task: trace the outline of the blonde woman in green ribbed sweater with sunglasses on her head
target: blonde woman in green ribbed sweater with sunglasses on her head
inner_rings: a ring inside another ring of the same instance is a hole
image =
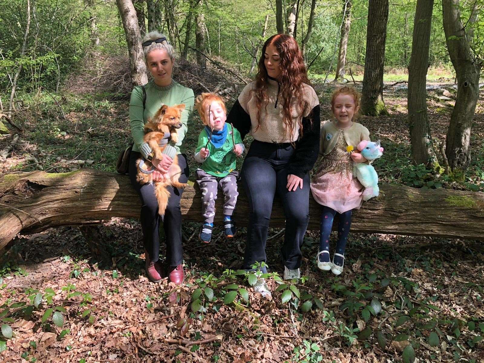
[[[131,152],[129,176],[133,187],[141,197],[140,220],[143,229],[145,267],[148,278],[153,282],[159,282],[167,273],[169,281],[181,284],[184,278],[180,209],[180,198],[183,190],[169,187],[171,196],[168,200],[168,206],[165,215],[160,216],[153,185],[140,185],[136,181],[136,160],[140,157],[151,160],[156,167],[153,171],[153,179],[161,181],[173,162],[172,157],[178,154],[178,164],[182,171],[180,182],[187,182],[190,172],[186,155],[183,153],[183,139],[187,131],[187,121],[192,117],[195,97],[193,90],[181,86],[171,76],[175,62],[175,50],[169,44],[165,35],[151,31],[143,38],[142,45],[146,66],[152,78],[144,86],[144,92],[142,87],[135,87],[131,92],[129,119],[131,136],[135,144]],[[153,157],[154,154],[150,146],[143,141],[144,124],[153,117],[161,106],[179,104],[185,104],[181,116],[182,127],[178,131],[179,141],[170,145],[168,138],[162,140],[161,143],[168,143],[168,146],[163,158],[156,159]],[[159,259],[160,237],[158,227],[160,219],[163,221],[166,236],[166,268]]]

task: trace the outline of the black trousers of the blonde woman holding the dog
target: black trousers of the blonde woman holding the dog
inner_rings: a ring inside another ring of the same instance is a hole
[[[129,178],[136,192],[141,197],[141,227],[143,229],[144,245],[150,258],[158,261],[160,255],[160,235],[158,227],[160,218],[163,222],[166,236],[166,262],[170,266],[178,266],[183,261],[183,249],[181,248],[181,208],[180,199],[183,189],[168,187],[170,198],[166,207],[165,215],[158,214],[158,201],[154,195],[153,184],[141,185],[136,181],[136,160],[141,157],[141,153],[131,151],[129,160]],[[190,171],[186,163],[184,154],[178,155],[178,165],[181,167],[179,181],[186,183]]]

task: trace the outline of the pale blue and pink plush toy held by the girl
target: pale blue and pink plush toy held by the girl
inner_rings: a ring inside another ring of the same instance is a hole
[[[358,144],[357,148],[370,161],[378,159],[383,154],[380,140],[376,142],[363,140]],[[378,174],[373,166],[366,163],[353,163],[353,177],[356,177],[364,186],[363,200],[378,197],[380,192],[378,188]]]

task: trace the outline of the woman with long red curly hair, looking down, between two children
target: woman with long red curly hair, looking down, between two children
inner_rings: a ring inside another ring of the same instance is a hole
[[[320,124],[318,96],[294,38],[277,34],[264,43],[256,80],[245,86],[227,122],[240,131],[242,139],[249,132],[254,138],[242,166],[249,201],[243,267],[251,269],[266,261],[267,229],[277,193],[286,214],[281,249],[284,278],[299,278],[309,221],[309,170],[318,157]],[[270,295],[263,279],[255,290]]]

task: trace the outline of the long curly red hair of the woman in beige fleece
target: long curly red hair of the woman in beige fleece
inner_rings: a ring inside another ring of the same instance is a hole
[[[282,99],[284,109],[283,122],[286,130],[289,131],[289,138],[292,140],[294,136],[294,124],[299,124],[300,134],[302,136],[302,116],[308,107],[307,102],[302,97],[302,84],[305,83],[311,86],[311,82],[307,77],[306,66],[302,58],[301,50],[296,40],[287,34],[272,35],[266,40],[262,47],[262,54],[258,63],[258,72],[256,76],[256,105],[257,105],[257,123],[260,124],[260,110],[262,105],[267,108],[269,98],[267,96],[267,87],[269,75],[267,74],[266,66],[264,64],[266,49],[269,45],[274,45],[279,53],[279,98]],[[298,108],[301,110],[301,115],[297,120],[291,117],[291,98],[298,98]],[[258,125],[257,125],[258,127]]]

